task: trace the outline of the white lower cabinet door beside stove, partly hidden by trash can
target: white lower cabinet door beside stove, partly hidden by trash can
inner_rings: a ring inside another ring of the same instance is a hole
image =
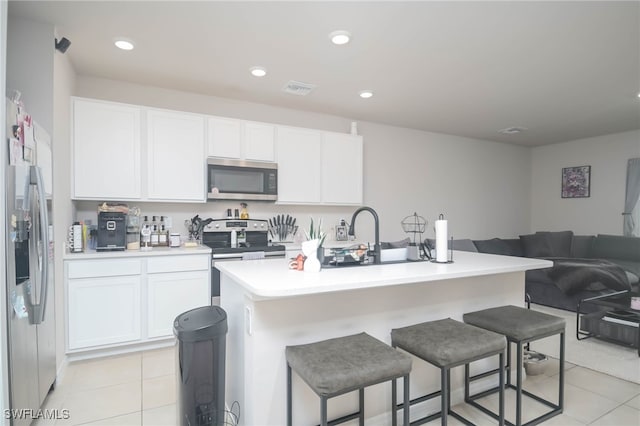
[[[211,304],[209,271],[149,274],[147,297],[147,337],[171,336],[178,315]]]

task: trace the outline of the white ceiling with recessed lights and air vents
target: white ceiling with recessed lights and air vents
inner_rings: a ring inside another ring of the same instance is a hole
[[[79,75],[520,145],[640,129],[638,1],[20,0],[9,15],[55,24]],[[292,79],[317,88],[284,93]]]

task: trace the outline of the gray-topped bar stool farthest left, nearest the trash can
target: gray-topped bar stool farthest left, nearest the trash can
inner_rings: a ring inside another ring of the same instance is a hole
[[[320,425],[327,426],[359,419],[364,425],[364,388],[392,381],[392,424],[397,425],[396,380],[403,377],[405,403],[409,398],[411,357],[366,333],[338,337],[299,346],[287,346],[287,425],[293,424],[291,370],[294,370],[320,397]],[[327,400],[359,391],[359,410],[338,419],[327,420]],[[404,425],[409,426],[409,409]]]

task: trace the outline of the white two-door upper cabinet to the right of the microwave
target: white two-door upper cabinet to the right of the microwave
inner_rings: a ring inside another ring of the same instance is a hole
[[[362,137],[278,127],[278,203],[361,205]]]

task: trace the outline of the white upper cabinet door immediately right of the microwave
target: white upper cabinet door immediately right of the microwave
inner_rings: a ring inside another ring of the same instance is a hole
[[[322,133],[278,127],[278,203],[320,202]]]

